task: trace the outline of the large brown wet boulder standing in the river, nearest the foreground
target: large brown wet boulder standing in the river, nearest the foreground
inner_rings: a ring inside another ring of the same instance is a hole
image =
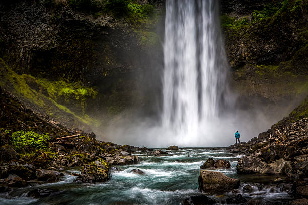
[[[223,173],[201,170],[198,178],[199,190],[204,193],[225,193],[240,186],[240,180]]]

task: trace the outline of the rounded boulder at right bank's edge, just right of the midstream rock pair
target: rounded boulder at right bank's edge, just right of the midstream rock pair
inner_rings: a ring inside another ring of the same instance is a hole
[[[238,174],[255,174],[264,168],[265,164],[261,159],[254,156],[245,156],[238,161],[236,170]]]

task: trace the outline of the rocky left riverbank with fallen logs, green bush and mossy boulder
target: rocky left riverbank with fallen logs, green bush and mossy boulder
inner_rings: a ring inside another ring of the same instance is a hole
[[[139,147],[103,142],[94,133],[71,130],[26,108],[2,89],[0,98],[1,192],[58,181],[71,167],[81,169],[76,182],[104,182],[111,177],[111,166],[139,161],[131,155]]]

